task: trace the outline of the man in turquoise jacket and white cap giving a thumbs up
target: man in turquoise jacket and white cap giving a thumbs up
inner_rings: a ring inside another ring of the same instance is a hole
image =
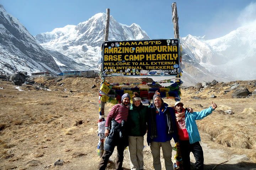
[[[187,112],[183,106],[184,104],[180,101],[174,105],[183,168],[190,170],[190,152],[192,152],[196,160],[195,169],[203,170],[203,149],[199,143],[201,138],[196,120],[203,119],[211,114],[217,108],[217,104],[212,102],[212,106],[209,108],[193,113]]]

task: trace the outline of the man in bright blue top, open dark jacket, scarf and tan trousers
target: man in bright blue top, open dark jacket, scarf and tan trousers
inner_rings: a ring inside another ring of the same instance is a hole
[[[158,91],[149,106],[147,142],[150,145],[155,170],[161,170],[160,148],[165,160],[165,169],[173,170],[171,156],[172,146],[170,140],[178,141],[175,125],[174,109],[164,103]]]

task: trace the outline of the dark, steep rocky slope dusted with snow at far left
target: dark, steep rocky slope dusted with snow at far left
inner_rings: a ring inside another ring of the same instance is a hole
[[[16,71],[57,74],[60,69],[18,19],[0,5],[0,73],[12,74]]]

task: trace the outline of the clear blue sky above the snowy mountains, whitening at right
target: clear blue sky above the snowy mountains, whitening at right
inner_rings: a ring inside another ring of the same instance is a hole
[[[77,25],[110,8],[117,22],[137,23],[151,39],[173,38],[170,0],[0,0],[32,35]],[[180,37],[214,39],[256,19],[256,0],[176,1]]]

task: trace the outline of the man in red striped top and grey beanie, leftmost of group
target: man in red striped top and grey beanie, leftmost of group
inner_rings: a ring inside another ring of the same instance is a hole
[[[105,124],[106,142],[104,145],[104,152],[100,160],[99,170],[105,170],[107,167],[108,159],[117,146],[116,169],[122,170],[123,165],[123,152],[128,146],[128,137],[125,134],[125,123],[128,117],[130,104],[130,96],[128,93],[122,96],[122,104],[116,104],[111,108],[107,115]]]

